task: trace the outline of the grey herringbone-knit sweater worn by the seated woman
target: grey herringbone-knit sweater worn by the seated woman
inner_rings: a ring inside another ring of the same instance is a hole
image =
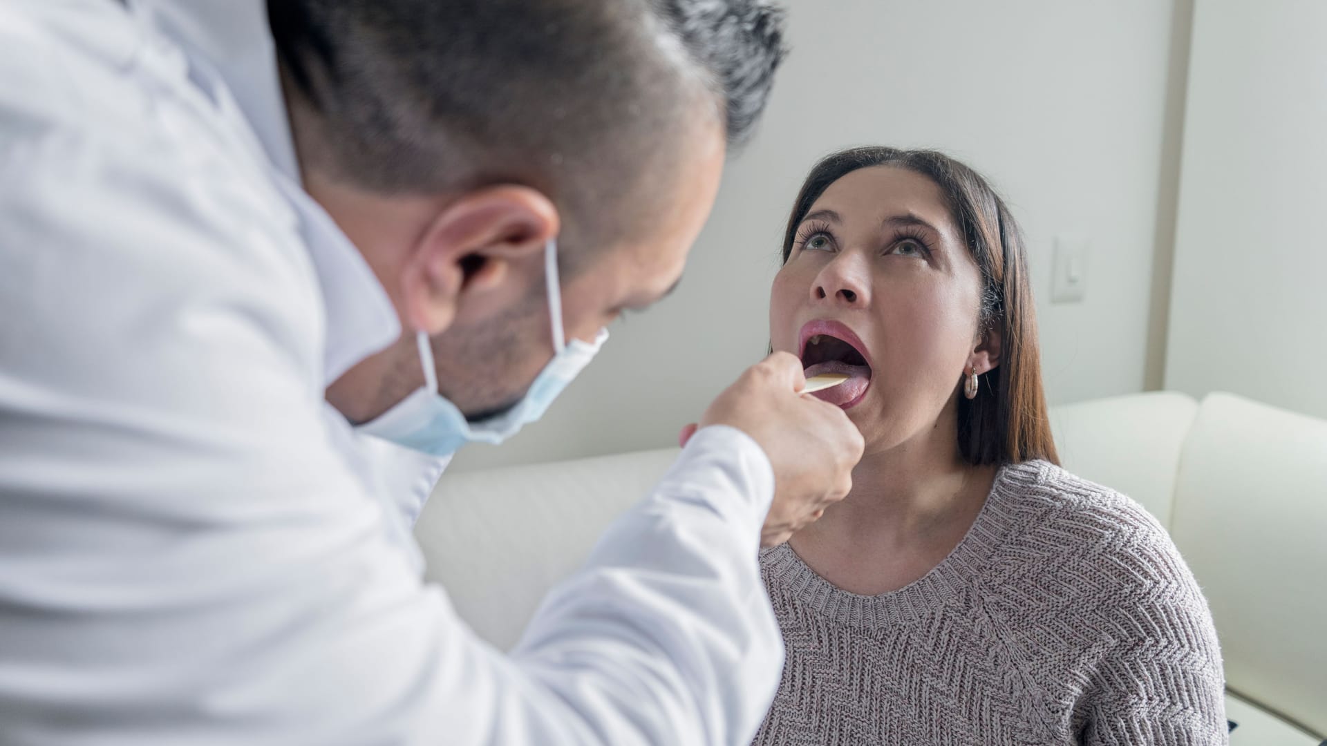
[[[787,662],[760,746],[1227,743],[1193,575],[1137,503],[1035,461],[910,585],[841,591],[760,555]]]

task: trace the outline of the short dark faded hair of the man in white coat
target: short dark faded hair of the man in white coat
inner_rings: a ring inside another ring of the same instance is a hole
[[[746,141],[784,56],[766,0],[269,0],[268,20],[301,162],[382,194],[524,183],[564,240],[585,211],[645,216],[633,196],[697,119]]]

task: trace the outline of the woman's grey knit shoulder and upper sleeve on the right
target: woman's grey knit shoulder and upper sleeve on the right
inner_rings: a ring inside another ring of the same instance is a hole
[[[1001,638],[1059,661],[1070,673],[1058,681],[1080,688],[1080,706],[1099,727],[1141,718],[1221,733],[1212,613],[1161,523],[1116,490],[1047,462],[1006,467],[991,496],[1022,518],[977,591],[1005,625]]]

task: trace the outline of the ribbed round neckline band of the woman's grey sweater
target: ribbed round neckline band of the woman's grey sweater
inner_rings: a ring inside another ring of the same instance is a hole
[[[974,584],[986,560],[1020,520],[1019,502],[1010,498],[1034,490],[1044,466],[1050,465],[1034,461],[1001,467],[958,546],[930,572],[897,591],[877,596],[844,591],[811,569],[788,543],[762,552],[766,576],[832,623],[876,627],[920,619],[959,600]]]

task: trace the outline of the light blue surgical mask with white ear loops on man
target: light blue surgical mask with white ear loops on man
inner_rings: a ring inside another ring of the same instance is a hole
[[[557,277],[557,242],[544,247],[544,281],[548,285],[548,316],[552,319],[553,358],[539,372],[529,390],[507,411],[478,422],[466,415],[438,393],[438,373],[433,365],[433,346],[429,335],[419,332],[419,362],[423,364],[423,388],[382,415],[365,422],[360,431],[386,438],[402,446],[433,455],[455,453],[466,443],[500,443],[516,434],[528,422],[544,415],[548,405],[563,393],[608,340],[608,329],[600,329],[593,342],[567,341],[563,329],[563,297]]]

